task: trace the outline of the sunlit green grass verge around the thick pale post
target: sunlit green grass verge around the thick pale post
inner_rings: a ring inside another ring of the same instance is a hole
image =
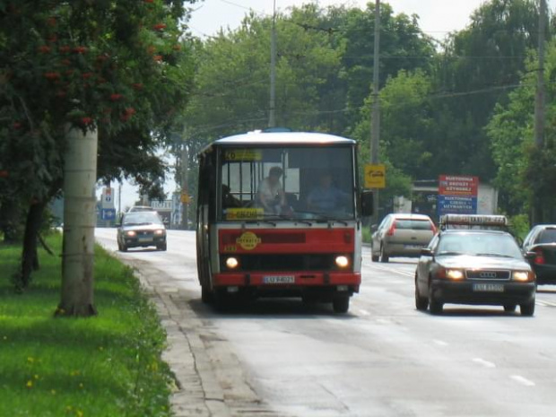
[[[48,237],[61,252],[61,236]],[[13,291],[21,248],[0,244],[0,415],[168,416],[166,334],[132,270],[97,247],[89,318],[54,317],[61,258],[39,251],[30,289]]]

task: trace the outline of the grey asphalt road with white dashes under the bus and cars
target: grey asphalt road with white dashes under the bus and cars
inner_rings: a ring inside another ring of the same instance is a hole
[[[113,251],[115,234],[96,231]],[[252,390],[267,410],[260,415],[556,413],[554,286],[540,287],[534,317],[449,304],[445,314],[431,316],[414,308],[416,260],[372,263],[367,248],[361,293],[347,315],[300,300],[257,300],[221,314],[200,301],[193,232],[169,230],[167,252],[131,249],[117,256],[168,275],[180,308],[192,308],[210,334],[204,345],[226,397],[244,395],[239,386]]]

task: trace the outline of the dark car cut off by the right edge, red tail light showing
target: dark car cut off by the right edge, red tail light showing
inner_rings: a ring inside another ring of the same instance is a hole
[[[537,284],[556,284],[556,224],[534,226],[523,241],[523,252],[534,252],[532,259]]]

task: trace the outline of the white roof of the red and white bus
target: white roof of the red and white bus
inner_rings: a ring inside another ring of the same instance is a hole
[[[262,132],[256,130],[241,135],[232,135],[218,139],[208,145],[201,153],[217,146],[266,146],[266,145],[318,145],[318,144],[355,144],[353,139],[342,136],[319,134],[314,132]]]

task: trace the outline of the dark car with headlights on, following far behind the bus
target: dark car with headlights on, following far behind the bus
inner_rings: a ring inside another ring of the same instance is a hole
[[[131,212],[122,216],[117,228],[117,248],[147,248],[166,250],[166,228],[156,212]]]

